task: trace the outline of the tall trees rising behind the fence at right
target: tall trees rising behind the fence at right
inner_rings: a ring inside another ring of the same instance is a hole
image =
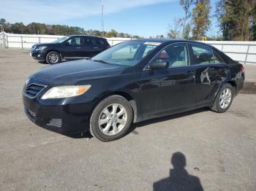
[[[211,0],[180,0],[179,3],[184,9],[184,17],[173,20],[167,32],[170,38],[206,39],[211,19],[217,17],[221,35],[214,39],[256,40],[255,0],[218,0],[214,15],[210,15]]]

